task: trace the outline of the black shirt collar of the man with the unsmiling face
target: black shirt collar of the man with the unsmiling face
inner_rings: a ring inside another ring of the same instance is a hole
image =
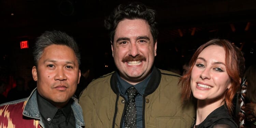
[[[39,108],[40,114],[47,120],[48,124],[51,124],[57,111],[63,112],[63,114],[66,117],[66,124],[68,123],[71,110],[72,110],[71,109],[71,102],[73,102],[72,99],[70,99],[68,104],[61,109],[58,109],[52,103],[44,99],[41,95],[39,95],[39,93],[37,93],[37,101],[38,101],[38,108]]]

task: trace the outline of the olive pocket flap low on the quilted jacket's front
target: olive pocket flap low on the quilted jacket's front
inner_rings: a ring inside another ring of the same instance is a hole
[[[157,117],[157,128],[186,128],[186,122],[181,117]]]

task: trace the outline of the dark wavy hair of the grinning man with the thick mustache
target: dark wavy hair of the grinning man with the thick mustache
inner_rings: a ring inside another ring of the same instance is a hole
[[[150,9],[146,5],[139,2],[132,2],[127,5],[120,4],[105,19],[105,28],[110,31],[110,40],[113,42],[115,30],[120,21],[124,19],[144,19],[150,26],[151,34],[155,43],[158,35],[155,15],[155,10]]]

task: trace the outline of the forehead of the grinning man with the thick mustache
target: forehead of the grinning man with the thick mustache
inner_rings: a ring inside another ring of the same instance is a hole
[[[115,37],[151,36],[150,26],[144,19],[124,19],[120,21],[115,30]]]

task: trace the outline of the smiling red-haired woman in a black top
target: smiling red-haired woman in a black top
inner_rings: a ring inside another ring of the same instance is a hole
[[[192,128],[237,128],[231,114],[244,71],[240,50],[227,40],[213,39],[197,49],[189,64],[180,84],[183,102],[197,99]]]

